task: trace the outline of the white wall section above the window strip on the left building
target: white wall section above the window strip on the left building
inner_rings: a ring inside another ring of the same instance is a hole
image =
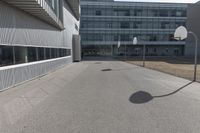
[[[61,31],[0,1],[0,43],[71,48],[72,35],[78,34],[75,24],[79,26],[79,22],[65,2],[63,14],[65,30]]]

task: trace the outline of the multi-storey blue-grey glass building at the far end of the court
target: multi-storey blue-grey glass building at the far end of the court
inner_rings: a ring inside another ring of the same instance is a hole
[[[182,56],[185,41],[173,34],[186,20],[187,4],[81,0],[82,54],[137,56],[145,44],[149,56]]]

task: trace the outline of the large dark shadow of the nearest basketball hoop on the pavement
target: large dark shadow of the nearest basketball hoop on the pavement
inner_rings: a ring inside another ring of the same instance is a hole
[[[138,91],[138,92],[136,92],[136,93],[134,93],[134,94],[132,94],[132,95],[130,96],[129,101],[130,101],[131,103],[134,103],[134,104],[143,104],[143,103],[147,103],[147,102],[153,100],[154,98],[162,98],[162,97],[167,97],[167,96],[173,95],[173,94],[175,94],[175,93],[181,91],[181,90],[184,89],[185,87],[191,85],[192,83],[193,83],[193,81],[190,82],[190,83],[188,83],[188,84],[186,84],[186,85],[184,85],[184,86],[182,86],[182,87],[180,87],[180,88],[178,88],[177,90],[175,90],[175,91],[173,91],[173,92],[171,92],[171,93],[164,94],[164,95],[159,95],[159,96],[152,96],[152,95],[151,95],[150,93],[148,93],[148,92],[145,92],[145,91]]]

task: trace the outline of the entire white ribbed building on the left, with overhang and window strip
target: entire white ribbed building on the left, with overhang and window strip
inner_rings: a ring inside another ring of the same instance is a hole
[[[79,0],[0,1],[0,90],[72,62]]]

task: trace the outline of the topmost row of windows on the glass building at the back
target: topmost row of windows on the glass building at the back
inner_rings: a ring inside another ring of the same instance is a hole
[[[82,7],[82,15],[92,16],[154,16],[186,17],[186,9],[97,9]]]

